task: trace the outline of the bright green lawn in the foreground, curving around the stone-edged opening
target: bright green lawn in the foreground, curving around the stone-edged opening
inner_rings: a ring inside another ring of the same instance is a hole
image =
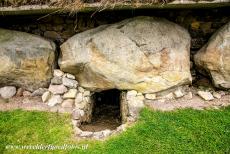
[[[67,115],[0,112],[0,153],[35,153],[4,149],[7,144],[88,144],[86,151],[60,153],[230,153],[230,108],[156,112],[144,109],[126,132],[106,141],[75,141]],[[52,151],[40,151],[52,153]]]

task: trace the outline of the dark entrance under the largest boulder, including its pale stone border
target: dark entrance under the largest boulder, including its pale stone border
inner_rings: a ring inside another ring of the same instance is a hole
[[[84,110],[76,106],[72,114],[75,134],[80,138],[104,139],[125,130],[133,122],[129,118],[136,119],[136,114],[129,113],[126,91],[91,91],[87,104]]]

